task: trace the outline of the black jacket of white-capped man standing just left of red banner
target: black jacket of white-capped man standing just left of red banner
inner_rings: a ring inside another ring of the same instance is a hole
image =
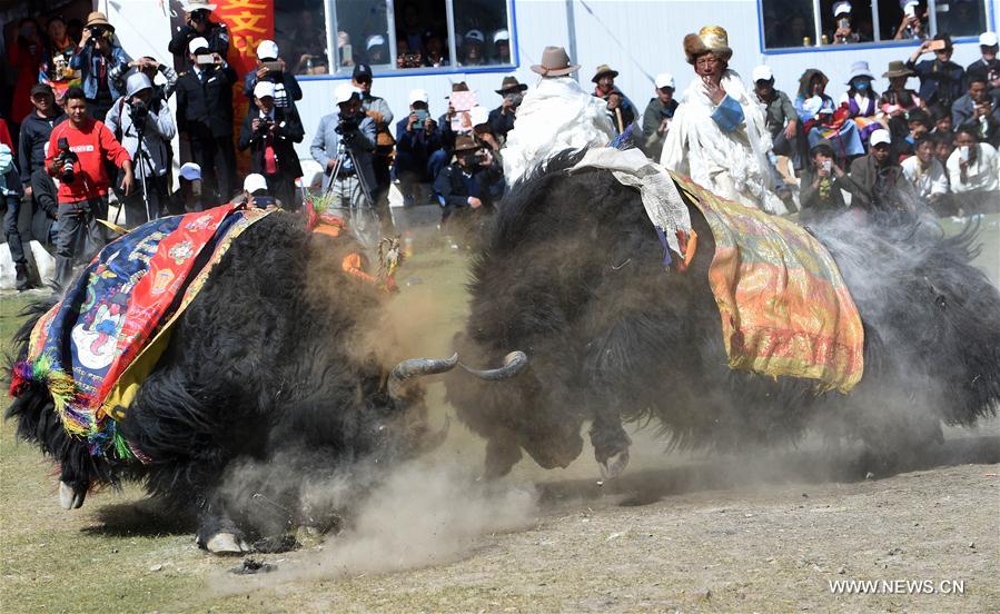
[[[232,83],[236,71],[214,67],[202,82],[194,70],[177,78],[177,129],[191,137],[232,135]]]

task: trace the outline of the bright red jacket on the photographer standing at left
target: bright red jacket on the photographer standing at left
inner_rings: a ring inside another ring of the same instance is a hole
[[[59,185],[59,202],[79,202],[90,200],[108,194],[108,174],[105,171],[105,160],[115,162],[121,167],[130,160],[128,150],[121,147],[115,139],[111,130],[101,121],[88,119],[82,129],[73,127],[70,120],[56,126],[49,137],[49,151],[46,155],[46,168],[52,177],[59,177],[62,168],[55,164],[59,154],[59,139],[66,139],[69,150],[77,155],[79,160],[73,165],[73,180]]]

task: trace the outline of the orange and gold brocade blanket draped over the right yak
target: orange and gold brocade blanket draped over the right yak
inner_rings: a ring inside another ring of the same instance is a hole
[[[861,316],[836,263],[794,222],[671,174],[715,238],[709,284],[730,367],[819,380],[846,393],[864,368]]]

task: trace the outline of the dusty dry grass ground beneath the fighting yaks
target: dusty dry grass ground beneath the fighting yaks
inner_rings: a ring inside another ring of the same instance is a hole
[[[978,265],[1000,284],[998,221],[992,216],[982,227]],[[417,245],[400,275],[403,300],[393,308],[409,318],[409,348],[443,354],[464,318],[463,256]],[[0,297],[0,339],[11,337],[26,300]],[[430,403],[444,413],[442,396],[432,386]],[[452,433],[445,454],[458,464],[479,463],[482,444],[461,427]],[[583,462],[545,474],[522,463],[513,479],[541,484],[543,506],[519,531],[484,535],[448,559],[397,573],[320,574],[254,590],[253,578],[228,574],[239,559],[200,552],[191,527],[159,515],[135,485],[62,511],[51,465],[16,443],[3,424],[0,611],[996,612],[998,468],[964,464],[997,462],[988,449],[1000,440],[996,423],[986,433],[960,439],[953,455],[941,457],[953,466],[853,484],[828,483],[802,469],[809,463],[798,456],[763,485],[741,464],[664,468],[653,444],[647,460],[659,466],[643,474],[637,452],[633,482],[617,491],[595,487],[594,467]],[[336,547],[334,541],[267,558],[301,568],[336,556]],[[914,576],[964,578],[970,587],[961,597],[865,601],[833,597],[824,584]]]

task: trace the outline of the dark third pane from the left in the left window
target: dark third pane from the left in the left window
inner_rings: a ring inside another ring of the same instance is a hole
[[[396,68],[451,66],[445,0],[408,0],[396,4]]]

